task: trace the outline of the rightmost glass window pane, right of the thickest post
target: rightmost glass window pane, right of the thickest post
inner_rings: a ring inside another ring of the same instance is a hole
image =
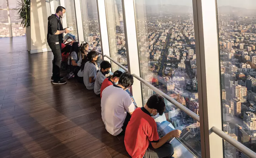
[[[217,5],[223,131],[256,152],[256,1]],[[228,144],[224,148],[225,154],[240,154]]]

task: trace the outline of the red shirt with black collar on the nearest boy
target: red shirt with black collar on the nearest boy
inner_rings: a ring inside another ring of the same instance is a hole
[[[159,142],[156,122],[144,107],[137,108],[125,130],[126,151],[132,158],[142,158],[150,142]]]

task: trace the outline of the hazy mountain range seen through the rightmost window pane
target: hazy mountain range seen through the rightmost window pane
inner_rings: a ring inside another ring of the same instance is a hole
[[[256,16],[256,9],[246,9],[232,6],[218,7],[218,14],[228,14],[234,16]]]

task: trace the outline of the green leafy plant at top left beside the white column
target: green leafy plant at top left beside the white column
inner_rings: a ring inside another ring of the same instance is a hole
[[[22,19],[21,26],[23,28],[30,26],[30,0],[18,1],[19,5],[19,19]]]

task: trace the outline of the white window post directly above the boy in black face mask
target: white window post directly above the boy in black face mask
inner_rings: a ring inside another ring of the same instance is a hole
[[[103,56],[103,55],[110,56],[108,33],[107,33],[106,8],[105,8],[104,0],[97,0],[97,10],[98,10],[98,19],[99,19],[102,58],[103,60],[111,62],[107,57],[104,58]]]

